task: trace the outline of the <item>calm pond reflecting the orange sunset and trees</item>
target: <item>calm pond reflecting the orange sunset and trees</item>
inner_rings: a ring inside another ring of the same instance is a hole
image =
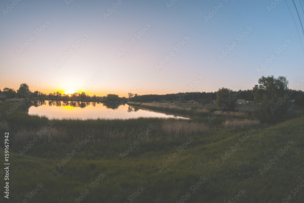
[[[187,117],[169,115],[152,110],[132,107],[120,103],[100,102],[69,102],[69,101],[31,101],[29,114],[44,115],[48,118],[107,118],[107,119],[128,119],[138,117],[159,117],[159,118],[183,118]]]

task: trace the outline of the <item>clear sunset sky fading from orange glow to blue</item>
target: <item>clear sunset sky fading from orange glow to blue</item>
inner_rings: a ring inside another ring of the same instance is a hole
[[[123,97],[282,75],[304,90],[304,3],[294,2],[2,0],[0,89]]]

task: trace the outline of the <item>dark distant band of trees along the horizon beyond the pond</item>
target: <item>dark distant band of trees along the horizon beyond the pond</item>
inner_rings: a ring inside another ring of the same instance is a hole
[[[254,101],[254,95],[252,89],[247,90],[239,90],[237,91],[237,99],[244,99],[245,101]],[[134,93],[128,93],[129,98],[119,97],[116,94],[108,94],[107,96],[89,96],[85,92],[82,93],[73,93],[71,95],[61,94],[59,92],[49,93],[48,95],[45,93],[41,93],[39,91],[32,92],[29,89],[29,86],[25,83],[21,84],[17,91],[15,89],[7,88],[0,89],[0,93],[4,94],[6,99],[9,98],[25,98],[25,99],[33,99],[39,98],[43,100],[100,100],[103,102],[106,101],[134,101],[134,102],[159,102],[159,101],[171,101],[178,103],[186,103],[187,101],[194,100],[199,103],[210,103],[212,100],[216,100],[216,92],[185,92],[185,93],[174,93],[174,94],[146,94],[146,95],[138,95]],[[293,90],[293,94],[289,97],[290,100],[296,100],[297,105],[304,106],[304,92],[302,90]],[[5,100],[5,98],[0,98],[0,100]]]

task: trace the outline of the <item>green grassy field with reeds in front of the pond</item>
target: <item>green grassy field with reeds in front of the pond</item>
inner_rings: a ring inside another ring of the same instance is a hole
[[[10,143],[10,198],[1,202],[304,199],[302,116],[269,126],[218,112],[209,122],[212,112],[191,107],[176,109],[197,112],[190,120],[49,120],[23,105],[7,117],[10,106],[0,103],[0,153],[5,132]]]

